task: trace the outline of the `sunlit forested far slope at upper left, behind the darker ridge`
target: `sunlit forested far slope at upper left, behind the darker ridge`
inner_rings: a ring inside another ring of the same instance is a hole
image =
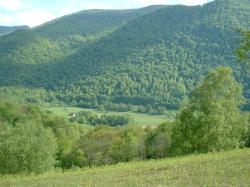
[[[61,59],[112,33],[127,21],[160,9],[87,10],[1,38],[0,63],[40,64]]]

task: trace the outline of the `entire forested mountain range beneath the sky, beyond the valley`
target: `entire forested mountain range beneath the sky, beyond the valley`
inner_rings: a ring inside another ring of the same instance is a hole
[[[212,68],[236,63],[248,0],[90,10],[0,38],[0,85],[45,88],[67,104],[177,108]]]

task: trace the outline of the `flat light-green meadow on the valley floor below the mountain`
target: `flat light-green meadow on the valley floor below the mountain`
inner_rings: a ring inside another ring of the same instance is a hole
[[[76,108],[76,107],[46,107],[45,110],[52,111],[54,114],[59,116],[68,117],[70,113],[76,113],[82,110],[85,111],[92,111],[96,113],[97,115],[107,114],[107,112],[98,111],[94,109],[82,109],[82,108]],[[174,112],[172,112],[174,115]],[[167,115],[150,115],[150,114],[139,114],[135,112],[108,112],[108,114],[116,114],[116,115],[122,115],[122,114],[128,114],[133,118],[133,124],[135,125],[159,125],[165,121],[171,120],[171,118]]]

